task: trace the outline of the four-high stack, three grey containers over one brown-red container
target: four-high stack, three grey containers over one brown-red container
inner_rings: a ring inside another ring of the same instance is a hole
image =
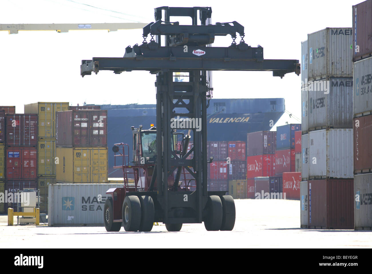
[[[353,37],[325,28],[301,44],[301,227],[353,228]]]

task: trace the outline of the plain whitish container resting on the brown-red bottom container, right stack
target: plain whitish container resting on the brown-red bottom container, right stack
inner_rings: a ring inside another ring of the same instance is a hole
[[[309,178],[353,178],[353,129],[309,133]]]

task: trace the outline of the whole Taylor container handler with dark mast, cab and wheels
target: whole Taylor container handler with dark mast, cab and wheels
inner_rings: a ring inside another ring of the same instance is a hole
[[[122,224],[125,231],[151,231],[154,222],[163,222],[168,231],[180,231],[184,223],[202,222],[209,231],[234,228],[232,196],[207,190],[208,163],[213,161],[207,158],[206,145],[206,108],[213,90],[211,71],[272,71],[273,76],[282,78],[291,72],[299,75],[300,64],[298,60],[263,59],[260,45],[251,47],[244,42],[242,25],[236,21],[212,25],[211,14],[211,7],[157,7],[155,22],[143,28],[141,45],[126,47],[124,57],[93,57],[81,62],[83,77],[100,70],[147,70],[156,74],[156,127],[132,127],[131,163],[127,144],[113,147],[115,168],[123,170],[125,186],[106,192],[112,196],[104,207],[107,231],[119,231]],[[171,22],[173,16],[191,17],[192,25]],[[237,33],[239,44],[235,42]],[[216,36],[226,35],[232,37],[229,47],[211,46]],[[180,72],[187,81],[177,79]],[[183,136],[180,131],[185,130]],[[193,143],[191,149],[187,149],[189,142]],[[117,158],[121,159],[118,165]],[[180,181],[183,169],[195,179],[194,188]],[[128,174],[134,176],[132,185]]]

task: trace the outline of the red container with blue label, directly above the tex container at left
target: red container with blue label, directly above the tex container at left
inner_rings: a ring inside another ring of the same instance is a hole
[[[5,154],[7,180],[32,180],[37,178],[36,148],[9,147]]]

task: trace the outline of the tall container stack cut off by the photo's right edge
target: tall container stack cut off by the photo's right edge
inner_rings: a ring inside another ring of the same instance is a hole
[[[353,6],[354,229],[372,230],[372,0]]]

